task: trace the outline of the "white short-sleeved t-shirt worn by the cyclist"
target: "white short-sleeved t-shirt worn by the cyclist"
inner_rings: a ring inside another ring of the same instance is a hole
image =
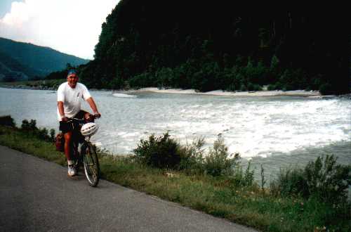
[[[62,83],[58,87],[58,101],[62,101],[63,110],[66,117],[73,117],[81,110],[81,100],[90,98],[91,95],[84,84],[77,83],[73,89],[68,82]],[[58,112],[58,120],[61,121],[60,112]]]

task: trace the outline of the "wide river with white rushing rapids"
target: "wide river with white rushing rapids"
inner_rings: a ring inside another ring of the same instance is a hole
[[[351,163],[350,100],[91,94],[102,113],[93,141],[112,153],[131,153],[140,138],[169,131],[183,144],[203,136],[206,146],[220,135],[231,153],[239,152],[266,169],[306,163],[331,153],[339,162]],[[84,109],[89,110],[88,105]],[[12,115],[18,126],[24,119],[35,119],[39,127],[58,131],[55,91],[0,88],[0,115]]]

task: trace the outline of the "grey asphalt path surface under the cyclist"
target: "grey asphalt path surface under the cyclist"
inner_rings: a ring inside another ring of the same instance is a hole
[[[0,231],[254,231],[0,146]]]

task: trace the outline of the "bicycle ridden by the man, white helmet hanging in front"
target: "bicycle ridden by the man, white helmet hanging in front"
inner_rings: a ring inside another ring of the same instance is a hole
[[[72,134],[72,158],[74,160],[74,166],[77,171],[81,167],[84,166],[84,173],[86,175],[86,179],[90,186],[96,187],[98,186],[100,180],[100,165],[98,160],[98,154],[96,153],[96,147],[91,143],[90,139],[93,134],[98,130],[97,125],[93,122],[95,120],[95,116],[91,115],[90,121],[86,122],[86,120],[79,120],[77,118],[71,118],[67,122],[72,122],[74,130]],[[85,133],[82,134],[82,130],[86,127],[94,124],[96,129],[93,131],[93,134]],[[84,126],[85,125],[85,126]],[[79,144],[81,144],[80,152],[79,152]]]

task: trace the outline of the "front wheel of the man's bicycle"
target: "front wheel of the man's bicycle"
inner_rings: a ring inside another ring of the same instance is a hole
[[[98,154],[96,154],[96,148],[91,143],[88,143],[88,146],[85,149],[83,163],[84,172],[89,185],[96,187],[100,179],[100,166]]]

